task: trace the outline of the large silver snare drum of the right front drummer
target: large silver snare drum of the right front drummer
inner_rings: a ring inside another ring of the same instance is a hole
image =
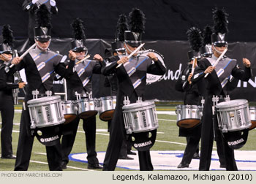
[[[223,133],[249,129],[252,125],[246,99],[223,101],[216,108],[219,129]]]

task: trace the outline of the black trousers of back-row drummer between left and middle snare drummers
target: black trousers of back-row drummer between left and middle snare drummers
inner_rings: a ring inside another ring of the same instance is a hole
[[[75,136],[78,131],[79,118],[64,125],[64,135],[61,140],[61,150],[63,153],[62,161],[69,162],[69,153],[75,142]],[[66,126],[66,127],[65,127]],[[99,164],[97,152],[95,151],[96,142],[96,116],[83,119],[83,130],[86,134],[86,150],[88,164]]]

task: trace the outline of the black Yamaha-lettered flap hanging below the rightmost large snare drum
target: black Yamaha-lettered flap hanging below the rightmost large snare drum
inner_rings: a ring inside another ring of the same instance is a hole
[[[243,147],[248,138],[249,129],[244,129],[241,131],[228,131],[227,133],[222,133],[228,147],[237,150]]]

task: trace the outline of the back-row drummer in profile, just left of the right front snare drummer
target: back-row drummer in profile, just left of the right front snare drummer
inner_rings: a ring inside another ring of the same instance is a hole
[[[200,59],[200,47],[201,47],[201,37],[200,37],[200,30],[198,28],[192,27],[189,28],[187,31],[189,44],[192,47],[192,50],[189,50],[188,57],[189,63],[188,66],[181,71],[181,75],[178,77],[176,82],[175,88],[176,91],[185,92],[184,94],[184,105],[200,105],[200,88],[197,85],[191,85],[189,88],[184,88],[185,85],[189,84],[189,78],[191,76],[189,73],[192,70],[193,60]],[[198,44],[196,44],[198,43]],[[195,63],[195,68],[197,64]],[[184,168],[189,167],[192,158],[200,158],[199,157],[199,141],[200,141],[200,134],[201,134],[201,125],[197,125],[191,129],[185,129],[179,127],[178,129],[178,136],[179,137],[186,137],[187,139],[187,146],[184,151],[184,156],[180,164],[178,164],[177,168]]]

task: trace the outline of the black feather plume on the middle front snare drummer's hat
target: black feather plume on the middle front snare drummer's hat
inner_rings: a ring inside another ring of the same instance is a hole
[[[138,9],[133,8],[129,13],[129,28],[130,31],[135,33],[144,33],[146,18],[144,13]]]

